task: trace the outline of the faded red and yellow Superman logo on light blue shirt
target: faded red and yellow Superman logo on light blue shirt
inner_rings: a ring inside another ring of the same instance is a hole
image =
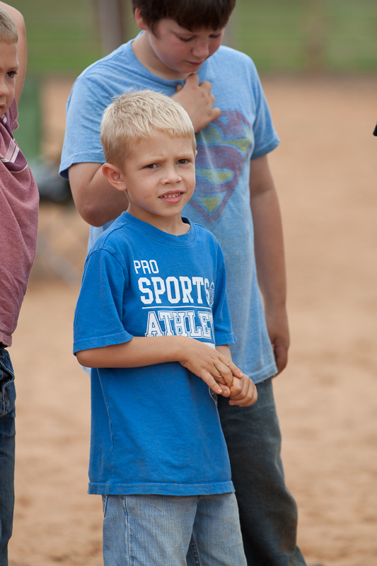
[[[250,123],[238,110],[221,112],[197,135],[197,184],[190,204],[213,225],[233,195],[249,159]]]

